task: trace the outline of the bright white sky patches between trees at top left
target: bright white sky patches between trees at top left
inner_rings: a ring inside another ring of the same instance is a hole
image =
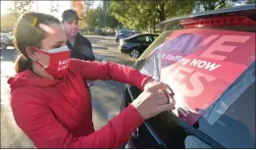
[[[99,5],[100,1],[95,1],[93,8],[96,8]],[[54,3],[59,4],[59,11],[56,14],[51,14],[57,17],[59,20],[61,20],[61,16],[63,11],[67,9],[71,9],[71,2],[70,1],[54,1]],[[1,14],[5,14],[5,12],[10,8],[12,5],[12,1],[2,1],[1,0]],[[38,12],[39,13],[45,13],[45,14],[50,14],[50,6],[51,6],[51,1],[37,1],[38,5]],[[31,11],[36,12],[36,2],[34,1],[31,7]]]

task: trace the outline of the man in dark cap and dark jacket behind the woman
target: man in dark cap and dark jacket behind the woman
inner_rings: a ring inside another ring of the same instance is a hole
[[[62,24],[68,36],[67,45],[72,50],[71,57],[84,60],[95,61],[90,41],[78,32],[77,12],[74,10],[66,10],[62,14]]]

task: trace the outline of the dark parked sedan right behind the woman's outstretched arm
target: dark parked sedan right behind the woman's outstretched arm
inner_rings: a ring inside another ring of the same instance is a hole
[[[158,34],[135,34],[121,39],[119,49],[131,58],[138,58],[157,37]]]

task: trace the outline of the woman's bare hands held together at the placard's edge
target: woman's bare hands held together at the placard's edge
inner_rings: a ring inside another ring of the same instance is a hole
[[[175,100],[168,93],[169,87],[162,82],[158,82],[144,90],[132,103],[140,116],[147,120],[164,111],[175,109]]]

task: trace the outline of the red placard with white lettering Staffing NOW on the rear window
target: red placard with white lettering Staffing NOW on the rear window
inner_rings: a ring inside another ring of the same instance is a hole
[[[170,85],[177,101],[174,113],[193,125],[255,61],[255,33],[177,30],[151,59],[142,70]]]

